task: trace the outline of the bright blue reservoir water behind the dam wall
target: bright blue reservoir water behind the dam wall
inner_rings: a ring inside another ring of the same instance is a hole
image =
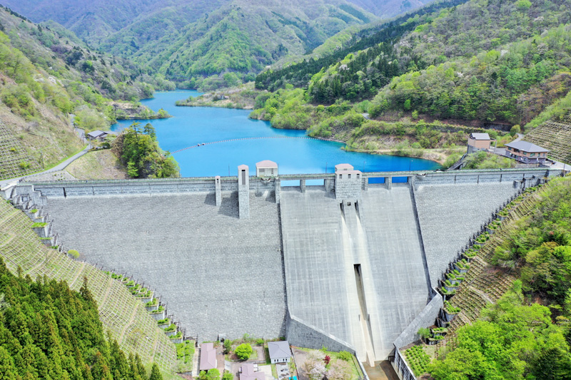
[[[246,164],[255,173],[256,163],[272,160],[283,174],[333,173],[338,163],[350,163],[362,171],[435,170],[438,163],[419,158],[345,152],[343,144],[307,138],[305,130],[281,130],[270,123],[248,119],[250,111],[229,108],[177,107],[175,102],[196,91],[163,91],[141,101],[153,111],[164,108],[172,118],[138,120],[152,123],[159,145],[173,153],[183,177],[236,175]],[[133,120],[120,120],[112,130],[121,130]]]

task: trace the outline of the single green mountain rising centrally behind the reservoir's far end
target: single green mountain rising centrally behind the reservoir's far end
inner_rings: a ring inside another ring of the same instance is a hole
[[[234,0],[188,26],[176,41],[164,38],[159,44],[165,49],[158,56],[147,48],[135,54],[153,67],[160,65],[167,78],[213,76],[211,81],[233,85],[237,79],[253,80],[264,66],[287,54],[311,51],[341,29],[372,19],[345,1]],[[218,78],[219,73],[227,78]]]

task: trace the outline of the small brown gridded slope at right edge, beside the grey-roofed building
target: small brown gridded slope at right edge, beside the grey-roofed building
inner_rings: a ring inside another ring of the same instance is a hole
[[[525,135],[524,140],[549,149],[549,158],[571,163],[571,113],[563,120],[547,120]]]

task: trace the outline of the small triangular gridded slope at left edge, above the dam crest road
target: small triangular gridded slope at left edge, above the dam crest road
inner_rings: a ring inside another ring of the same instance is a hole
[[[0,122],[0,180],[20,177],[40,169],[39,163],[26,153],[21,143]]]

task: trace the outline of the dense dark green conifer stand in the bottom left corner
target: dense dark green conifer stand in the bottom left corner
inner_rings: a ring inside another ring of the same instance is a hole
[[[16,277],[0,259],[1,379],[148,379],[138,356],[107,341],[89,284]],[[162,379],[153,366],[151,379]]]

